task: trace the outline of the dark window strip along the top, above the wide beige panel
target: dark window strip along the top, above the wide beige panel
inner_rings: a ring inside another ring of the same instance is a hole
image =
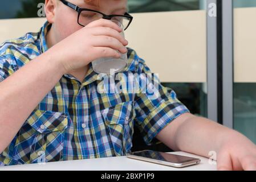
[[[198,10],[205,0],[128,0],[130,13]],[[44,0],[2,1],[0,19],[38,17],[39,3]]]

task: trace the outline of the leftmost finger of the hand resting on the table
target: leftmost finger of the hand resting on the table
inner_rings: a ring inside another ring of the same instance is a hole
[[[218,155],[217,169],[218,171],[231,171],[233,169],[229,153],[222,152],[221,154]]]

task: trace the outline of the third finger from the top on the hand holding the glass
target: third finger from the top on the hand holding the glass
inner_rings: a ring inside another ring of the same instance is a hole
[[[110,47],[116,49],[121,53],[127,53],[127,48],[123,46],[119,40],[112,38],[111,36],[94,36],[92,40],[92,46],[94,47]]]

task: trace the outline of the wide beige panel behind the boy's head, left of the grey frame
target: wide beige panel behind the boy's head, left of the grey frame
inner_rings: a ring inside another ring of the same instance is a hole
[[[133,14],[125,32],[162,82],[206,82],[206,11]],[[0,42],[38,31],[44,18],[0,20]]]

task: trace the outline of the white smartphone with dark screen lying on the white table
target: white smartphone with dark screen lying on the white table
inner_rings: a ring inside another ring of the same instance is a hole
[[[197,158],[190,158],[187,156],[168,154],[165,152],[152,150],[130,152],[127,154],[127,157],[177,168],[192,166],[201,162],[201,160]]]

